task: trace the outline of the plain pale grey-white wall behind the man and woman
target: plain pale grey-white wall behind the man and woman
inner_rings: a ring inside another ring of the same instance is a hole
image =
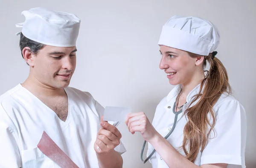
[[[0,94],[23,83],[29,66],[21,57],[23,10],[34,7],[66,11],[81,19],[77,67],[70,86],[89,91],[103,106],[129,106],[150,120],[160,100],[173,88],[158,68],[157,42],[173,15],[212,21],[221,33],[218,57],[225,65],[234,96],[247,112],[247,168],[256,167],[256,1],[255,0],[1,0]],[[127,152],[124,168],[148,168],[140,161],[141,135],[118,126]]]

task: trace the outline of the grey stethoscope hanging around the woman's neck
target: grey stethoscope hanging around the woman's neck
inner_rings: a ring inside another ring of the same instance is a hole
[[[186,103],[185,103],[186,104]],[[172,126],[172,129],[170,130],[170,132],[164,137],[165,139],[167,139],[171,134],[172,132],[174,131],[175,127],[176,127],[176,124],[177,124],[177,119],[178,119],[178,115],[180,113],[182,113],[182,110],[183,110],[183,105],[178,107],[178,108],[181,108],[180,111],[177,111],[175,112],[175,107],[176,107],[176,101],[173,105],[173,108],[172,108],[172,112],[175,114],[175,118],[174,118],[174,122],[173,122],[173,126]],[[143,161],[143,163],[147,162],[152,156],[153,154],[155,153],[155,149],[154,151],[151,152],[151,154],[147,157],[147,159],[145,159],[145,161],[143,160],[143,151],[144,151],[144,148],[145,148],[145,145],[146,145],[146,142],[147,141],[144,141],[143,143],[143,146],[142,146],[142,150],[141,150],[141,154],[140,154],[140,159]]]

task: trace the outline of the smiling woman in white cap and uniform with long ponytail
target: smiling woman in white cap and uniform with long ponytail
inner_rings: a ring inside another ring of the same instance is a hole
[[[160,69],[176,86],[157,105],[152,124],[143,112],[126,119],[129,131],[148,142],[144,163],[150,158],[153,168],[245,168],[245,111],[215,57],[219,39],[218,29],[198,17],[174,16],[163,26]]]

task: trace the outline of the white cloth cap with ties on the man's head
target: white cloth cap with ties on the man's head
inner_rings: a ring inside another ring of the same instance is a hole
[[[30,40],[49,46],[76,46],[80,19],[75,14],[45,8],[32,8],[21,14],[25,22],[16,26],[22,27],[22,34]]]

